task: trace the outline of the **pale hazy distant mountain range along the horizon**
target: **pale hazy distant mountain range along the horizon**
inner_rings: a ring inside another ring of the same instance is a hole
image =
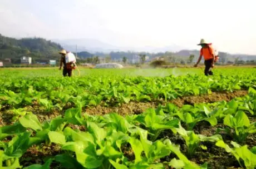
[[[198,50],[189,50],[186,47],[178,46],[173,44],[171,46],[165,47],[153,47],[153,46],[145,46],[145,47],[119,47],[109,43],[101,42],[97,39],[52,39],[53,42],[60,43],[63,48],[67,51],[76,51],[77,45],[77,52],[89,52],[89,53],[96,53],[96,52],[103,52],[109,54],[110,52],[121,52],[121,51],[131,51],[131,52],[148,52],[148,53],[159,53],[159,52],[173,52],[174,56],[179,57],[188,57],[190,54],[194,54],[196,57],[199,56]],[[239,58],[240,60],[256,60],[256,55],[249,55],[249,54],[230,54],[225,52],[220,52],[220,56],[225,56],[229,60],[234,60],[235,58]]]

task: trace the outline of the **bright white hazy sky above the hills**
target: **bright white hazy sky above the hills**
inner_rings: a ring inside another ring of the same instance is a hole
[[[0,33],[256,54],[254,0],[0,0]]]

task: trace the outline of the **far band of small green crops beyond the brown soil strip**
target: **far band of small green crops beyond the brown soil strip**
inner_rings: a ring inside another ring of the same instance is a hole
[[[0,81],[0,107],[39,104],[50,111],[67,102],[83,106],[118,105],[130,101],[173,100],[181,96],[256,88],[256,73],[168,77],[92,76],[81,78],[14,78]]]

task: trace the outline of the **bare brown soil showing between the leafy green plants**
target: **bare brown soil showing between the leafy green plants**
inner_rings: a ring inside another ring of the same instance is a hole
[[[234,91],[233,93],[228,92],[213,92],[211,95],[202,95],[202,96],[186,96],[182,98],[178,98],[176,100],[169,101],[170,103],[174,103],[176,106],[181,107],[183,105],[194,105],[195,103],[207,102],[213,103],[218,101],[230,101],[235,97],[242,97],[247,95],[247,91]],[[167,102],[163,102],[162,105],[165,105]],[[130,102],[122,104],[119,107],[105,107],[98,105],[96,107],[86,108],[85,113],[89,115],[105,115],[107,113],[116,112],[122,116],[131,115],[131,114],[139,114],[145,112],[148,108],[156,108],[159,105],[159,102]],[[66,108],[70,108],[72,105],[66,105],[62,111],[53,110],[51,112],[46,112],[42,110],[39,106],[27,106],[27,110],[33,112],[37,115],[38,120],[40,122],[50,120],[51,118],[55,118],[57,116],[63,115]],[[12,112],[8,111],[8,108],[2,109],[0,111],[0,126],[11,125],[14,121],[12,121],[12,117],[14,116]],[[251,122],[256,121],[256,117],[249,116]],[[86,131],[84,126],[78,125],[68,125],[74,130]],[[194,132],[196,134],[201,134],[205,136],[212,136],[215,134],[217,128],[224,128],[226,126],[218,123],[218,125],[212,127],[208,122],[201,121],[198,122],[194,127]],[[220,133],[223,137],[223,140],[227,143],[233,140],[229,135],[225,135],[225,133]],[[166,130],[161,133],[159,138],[163,139],[169,138],[171,142],[176,145],[180,145],[181,152],[186,155],[186,143],[185,140],[179,136],[174,135],[172,131]],[[9,140],[6,138],[6,140]],[[249,135],[245,143],[249,148],[256,146],[256,135]],[[215,143],[212,142],[204,142],[204,146],[207,147],[207,150],[202,150],[200,147],[195,152],[193,157],[190,157],[189,160],[199,165],[202,165],[205,162],[208,162],[209,168],[239,168],[239,163],[235,159],[234,156],[227,153],[223,148],[216,147]],[[122,152],[124,152],[125,157],[127,157],[130,161],[135,159],[134,152],[132,151],[131,146],[125,145],[122,146]],[[51,146],[41,145],[41,146],[32,146],[27,150],[26,153],[21,157],[21,165],[29,166],[31,164],[43,164],[45,163],[46,158],[55,156],[61,153],[61,147],[55,144]],[[173,153],[170,156],[161,159],[161,161],[170,161],[172,158],[176,157]],[[177,158],[177,157],[176,157]],[[51,168],[61,168],[60,164],[53,162]]]

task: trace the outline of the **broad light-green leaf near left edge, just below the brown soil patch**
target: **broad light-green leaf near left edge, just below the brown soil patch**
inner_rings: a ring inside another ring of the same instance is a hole
[[[35,131],[43,130],[41,123],[38,121],[36,115],[28,114],[26,116],[23,116],[19,118],[19,122],[23,127],[31,128],[32,130],[35,130]]]

